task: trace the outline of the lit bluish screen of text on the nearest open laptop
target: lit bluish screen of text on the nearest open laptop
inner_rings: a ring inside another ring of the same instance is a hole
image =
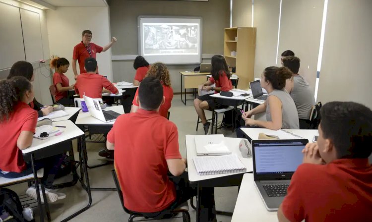
[[[256,144],[255,166],[257,174],[294,172],[302,164],[301,142]]]

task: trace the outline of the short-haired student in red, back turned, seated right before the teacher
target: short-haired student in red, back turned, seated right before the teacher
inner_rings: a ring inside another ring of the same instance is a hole
[[[83,98],[83,95],[90,98],[102,98],[102,93],[118,94],[119,90],[104,76],[97,74],[98,66],[95,58],[85,59],[86,73],[77,76],[75,93]],[[103,90],[106,88],[106,90]]]

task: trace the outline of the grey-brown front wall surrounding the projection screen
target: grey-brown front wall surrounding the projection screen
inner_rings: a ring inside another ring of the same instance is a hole
[[[113,47],[114,81],[132,81],[133,59],[138,55],[137,17],[139,15],[200,16],[202,24],[202,62],[223,54],[224,28],[230,26],[230,0],[161,1],[111,0],[111,33],[118,38]],[[127,57],[125,59],[119,57]],[[195,65],[169,65],[174,92],[180,92],[180,71],[193,70]]]

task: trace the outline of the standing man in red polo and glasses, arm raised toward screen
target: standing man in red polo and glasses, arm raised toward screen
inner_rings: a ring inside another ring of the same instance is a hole
[[[77,70],[76,70],[76,60],[79,62],[79,73],[85,73],[84,70],[84,62],[86,58],[92,57],[96,58],[97,53],[106,52],[110,47],[116,42],[116,38],[113,37],[111,42],[104,46],[98,46],[94,43],[91,43],[92,40],[92,32],[90,30],[84,30],[81,34],[82,41],[77,44],[73,48],[73,55],[72,55],[72,70],[73,74],[75,75],[75,80],[77,78]]]

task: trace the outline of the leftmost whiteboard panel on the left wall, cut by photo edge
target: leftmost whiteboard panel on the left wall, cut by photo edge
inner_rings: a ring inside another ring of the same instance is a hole
[[[40,25],[39,25],[40,26]],[[25,60],[19,8],[0,3],[0,69]]]

